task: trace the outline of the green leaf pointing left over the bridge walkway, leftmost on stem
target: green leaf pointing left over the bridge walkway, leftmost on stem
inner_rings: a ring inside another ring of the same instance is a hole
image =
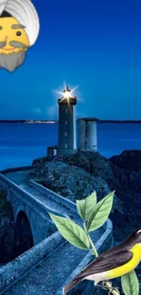
[[[64,217],[56,216],[49,212],[48,214],[66,241],[69,241],[79,249],[89,250],[89,241],[86,232],[79,225]]]

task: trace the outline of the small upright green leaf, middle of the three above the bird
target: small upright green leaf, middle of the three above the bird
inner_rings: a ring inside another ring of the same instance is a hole
[[[90,213],[94,210],[96,206],[96,192],[91,193],[89,197],[85,200],[76,200],[77,211],[81,218],[86,221]]]

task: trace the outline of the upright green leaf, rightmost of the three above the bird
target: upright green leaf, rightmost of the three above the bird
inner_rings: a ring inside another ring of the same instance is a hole
[[[114,192],[110,192],[104,199],[98,202],[87,221],[87,231],[95,231],[107,220],[112,209]]]

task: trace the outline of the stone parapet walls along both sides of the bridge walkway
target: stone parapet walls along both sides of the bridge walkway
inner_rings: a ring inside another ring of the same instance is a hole
[[[24,189],[21,187],[18,187],[14,182],[11,182],[8,180],[4,175],[0,174],[0,186],[1,183],[3,183],[6,187],[8,187],[9,190],[17,192],[17,197],[18,198],[23,198],[28,202],[29,206],[32,206],[35,204],[35,206],[38,206],[40,214],[41,214],[41,208],[42,212],[45,212],[45,207],[42,207],[42,204],[40,202],[37,202],[34,198],[33,195],[30,193],[26,192]],[[72,208],[72,211],[76,211],[76,204],[74,202],[65,200],[65,198],[57,195],[55,192],[51,192],[47,189],[44,190],[44,187],[42,187],[38,183],[33,183],[32,185],[35,185],[36,189],[41,189],[42,192],[47,193],[47,196],[49,198],[53,198],[56,202],[60,202],[64,204],[67,208],[70,209]],[[40,188],[41,186],[41,188]],[[40,192],[41,192],[40,191]],[[30,201],[29,201],[30,200]],[[34,210],[35,210],[34,206]],[[56,214],[56,212],[55,212]],[[106,248],[109,248],[109,243],[112,240],[112,223],[110,220],[107,220],[106,223],[103,226],[104,228],[104,233],[101,235],[100,239],[96,242],[96,249],[101,250],[103,249],[106,251]],[[7,263],[4,267],[0,269],[0,293],[4,293],[6,289],[9,289],[17,280],[20,280],[26,273],[27,271],[31,270],[34,268],[40,261],[43,261],[47,254],[50,253],[51,249],[52,251],[55,250],[56,247],[58,247],[61,243],[65,242],[65,240],[62,238],[60,233],[56,231],[54,234],[52,234],[49,238],[45,239],[44,241],[41,241],[35,247],[30,249],[29,251],[26,251],[24,254],[20,255],[17,257],[14,261],[11,261]],[[80,270],[82,270],[86,264],[92,260],[92,256],[88,253],[86,255],[86,258],[78,265],[76,270],[72,273],[71,277],[66,280],[70,281],[73,279],[76,273],[78,273]],[[57,295],[62,294],[61,290],[58,290]]]

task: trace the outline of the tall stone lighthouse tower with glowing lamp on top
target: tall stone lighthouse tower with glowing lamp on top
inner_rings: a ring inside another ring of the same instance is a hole
[[[63,97],[58,99],[58,155],[76,152],[76,96],[66,85]]]

